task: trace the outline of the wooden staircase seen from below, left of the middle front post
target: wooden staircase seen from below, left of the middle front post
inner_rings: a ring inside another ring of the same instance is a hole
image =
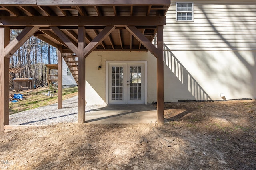
[[[64,54],[63,56],[72,76],[78,84],[78,57],[74,54]]]

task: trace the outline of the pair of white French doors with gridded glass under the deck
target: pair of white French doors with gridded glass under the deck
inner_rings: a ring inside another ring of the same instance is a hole
[[[145,103],[145,63],[108,63],[108,103]]]

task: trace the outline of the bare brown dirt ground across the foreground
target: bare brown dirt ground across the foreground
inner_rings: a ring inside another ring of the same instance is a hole
[[[256,100],[168,103],[164,115],[170,124],[6,131],[0,169],[256,169]]]

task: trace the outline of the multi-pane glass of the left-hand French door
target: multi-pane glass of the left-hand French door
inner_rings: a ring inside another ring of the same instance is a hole
[[[123,99],[123,67],[112,66],[112,100]]]

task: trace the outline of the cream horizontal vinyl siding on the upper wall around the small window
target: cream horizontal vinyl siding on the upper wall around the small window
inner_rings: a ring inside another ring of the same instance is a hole
[[[176,21],[176,2],[166,14],[164,43],[171,50],[255,51],[256,1],[193,1],[194,22]]]

